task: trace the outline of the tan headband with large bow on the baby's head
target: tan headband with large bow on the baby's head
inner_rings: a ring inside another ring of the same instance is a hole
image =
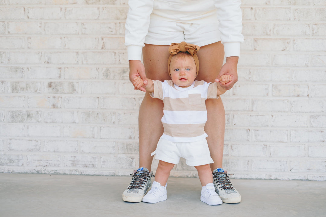
[[[198,61],[198,57],[197,57],[197,51],[199,50],[199,46],[197,45],[193,45],[193,44],[187,44],[186,42],[181,42],[181,43],[172,43],[169,47],[169,53],[171,54],[168,60],[168,72],[169,75],[171,76],[170,73],[170,63],[171,63],[171,59],[172,57],[179,53],[179,52],[188,52],[191,54],[191,56],[194,58],[195,60],[195,64],[196,64],[196,68],[197,68],[197,72],[196,72],[196,76],[198,75],[198,71],[199,71],[199,61]]]

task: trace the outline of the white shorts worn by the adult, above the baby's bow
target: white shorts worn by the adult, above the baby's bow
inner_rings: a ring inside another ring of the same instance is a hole
[[[151,20],[145,44],[170,45],[185,41],[190,44],[204,45],[221,41],[218,23],[185,23],[165,20]]]

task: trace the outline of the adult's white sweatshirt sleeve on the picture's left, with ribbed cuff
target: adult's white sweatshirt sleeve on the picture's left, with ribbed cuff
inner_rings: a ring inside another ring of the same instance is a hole
[[[141,60],[141,51],[148,33],[154,0],[129,0],[126,20],[125,45],[129,60]]]

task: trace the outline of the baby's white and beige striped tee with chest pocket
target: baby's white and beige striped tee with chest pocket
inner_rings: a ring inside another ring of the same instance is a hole
[[[217,83],[194,81],[188,88],[173,84],[172,80],[153,81],[153,98],[163,100],[162,138],[172,142],[196,142],[206,138],[206,99],[217,99]]]

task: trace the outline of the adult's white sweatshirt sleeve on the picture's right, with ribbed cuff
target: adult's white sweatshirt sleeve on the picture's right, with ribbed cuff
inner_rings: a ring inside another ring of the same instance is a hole
[[[241,0],[214,0],[225,57],[240,56],[243,43]]]

